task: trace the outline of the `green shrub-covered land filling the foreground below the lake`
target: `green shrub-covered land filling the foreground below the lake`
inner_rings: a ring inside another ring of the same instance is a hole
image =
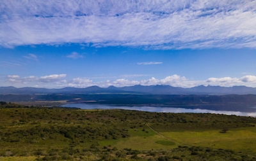
[[[256,160],[252,117],[0,102],[0,118],[0,160]]]

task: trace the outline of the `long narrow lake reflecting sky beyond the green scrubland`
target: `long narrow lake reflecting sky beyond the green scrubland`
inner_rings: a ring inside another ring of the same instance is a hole
[[[230,105],[200,105],[200,106],[109,106],[103,104],[64,104],[61,107],[81,109],[130,109],[158,113],[216,113],[237,116],[256,116],[256,107]]]

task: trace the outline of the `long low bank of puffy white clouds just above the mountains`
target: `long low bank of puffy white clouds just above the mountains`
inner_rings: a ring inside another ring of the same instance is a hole
[[[256,87],[256,76],[248,75],[241,78],[208,78],[207,80],[191,80],[184,76],[179,76],[174,74],[172,76],[166,76],[163,79],[149,78],[148,80],[127,80],[125,78],[116,80],[106,80],[106,81],[93,81],[88,78],[73,78],[72,80],[65,80],[66,74],[52,74],[49,76],[28,76],[20,77],[18,75],[8,75],[6,76],[6,85],[15,85],[22,87],[33,87],[39,85],[38,87],[44,87],[46,84],[56,88],[56,87],[91,87],[93,85],[99,87],[109,87],[114,85],[115,87],[125,87],[132,85],[171,85],[173,87],[196,87],[198,85],[212,85],[212,86],[223,86],[232,87],[234,85],[245,85],[248,87]],[[10,83],[10,84],[8,84]]]

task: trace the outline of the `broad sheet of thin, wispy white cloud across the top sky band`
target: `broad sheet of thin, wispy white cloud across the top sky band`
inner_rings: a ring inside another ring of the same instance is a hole
[[[256,1],[1,1],[0,46],[255,48]]]

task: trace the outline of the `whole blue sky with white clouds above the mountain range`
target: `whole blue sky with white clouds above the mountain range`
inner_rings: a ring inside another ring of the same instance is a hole
[[[0,87],[93,85],[256,87],[256,1],[0,1]]]

